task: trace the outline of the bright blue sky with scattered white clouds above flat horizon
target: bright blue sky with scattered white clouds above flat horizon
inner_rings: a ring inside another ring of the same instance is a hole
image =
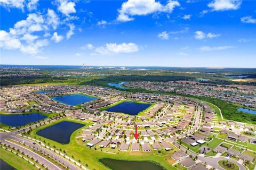
[[[256,66],[256,1],[0,5],[1,64]]]

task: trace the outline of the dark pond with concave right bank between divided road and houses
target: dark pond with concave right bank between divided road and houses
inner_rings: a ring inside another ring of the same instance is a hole
[[[63,121],[49,126],[43,130],[39,130],[36,132],[36,134],[62,144],[68,144],[71,134],[83,126],[85,125],[75,122]]]

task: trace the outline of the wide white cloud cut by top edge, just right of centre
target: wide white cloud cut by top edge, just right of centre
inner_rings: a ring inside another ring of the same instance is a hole
[[[155,0],[128,0],[122,4],[118,10],[117,21],[132,21],[135,15],[148,15],[157,12],[171,13],[176,6],[180,6],[178,1],[167,1],[166,5],[162,5]]]

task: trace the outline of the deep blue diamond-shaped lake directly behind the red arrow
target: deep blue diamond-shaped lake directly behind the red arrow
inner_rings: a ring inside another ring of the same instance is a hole
[[[138,115],[138,113],[147,109],[151,104],[134,103],[131,101],[125,101],[117,104],[113,107],[106,109],[108,112],[125,113],[129,115]]]

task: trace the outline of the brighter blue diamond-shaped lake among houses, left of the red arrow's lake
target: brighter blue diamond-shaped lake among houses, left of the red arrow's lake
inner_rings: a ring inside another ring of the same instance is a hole
[[[51,98],[56,101],[59,101],[60,103],[72,105],[72,106],[76,106],[76,105],[97,99],[96,97],[85,96],[81,94],[55,96]]]

